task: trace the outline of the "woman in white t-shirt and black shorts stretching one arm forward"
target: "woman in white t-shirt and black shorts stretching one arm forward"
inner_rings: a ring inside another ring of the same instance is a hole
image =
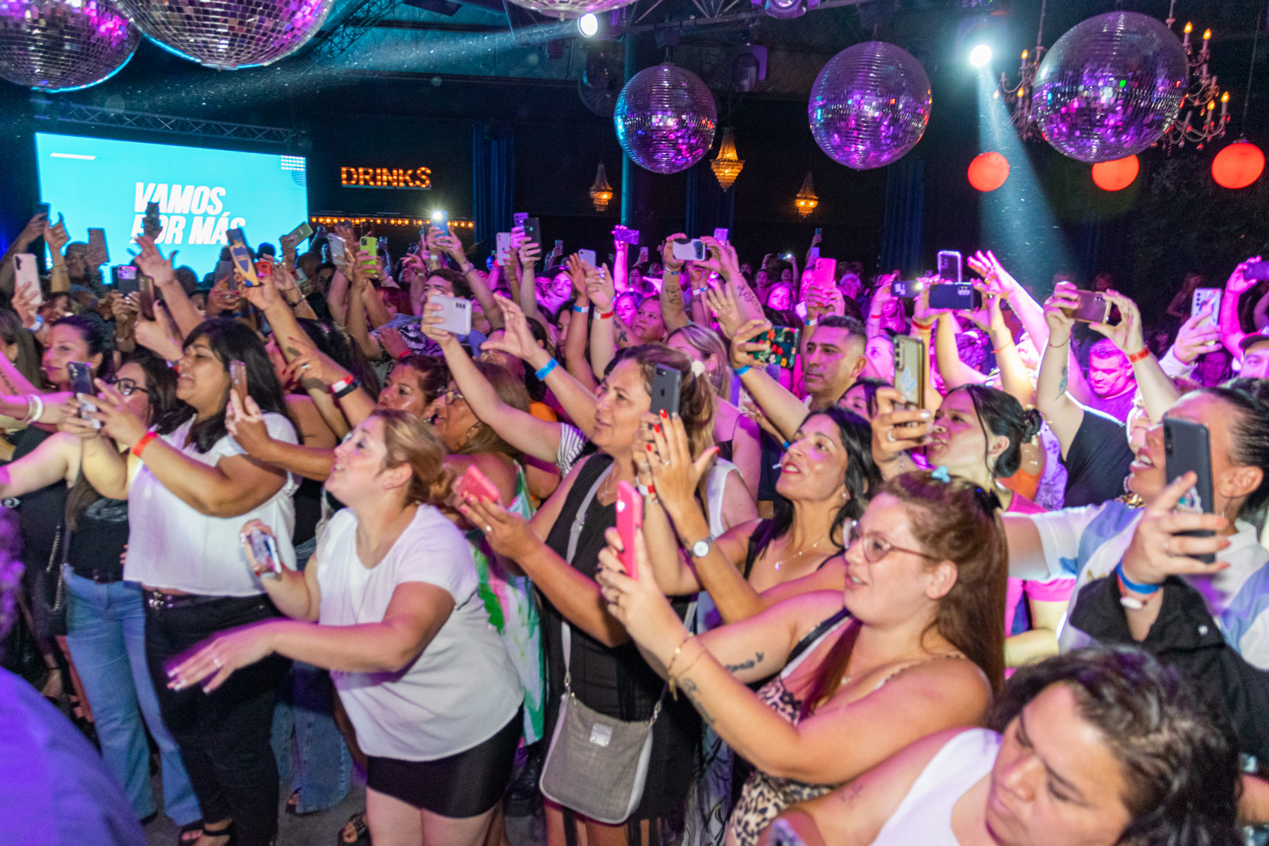
[[[450,482],[444,452],[418,416],[371,413],[335,449],[326,487],[350,505],[305,572],[251,554],[293,619],[221,633],[170,670],[174,689],[214,696],[274,656],[330,668],[369,756],[377,846],[485,843],[520,739],[520,680],[467,540],[435,507]],[[284,539],[259,520],[240,525],[247,550],[255,531]]]

